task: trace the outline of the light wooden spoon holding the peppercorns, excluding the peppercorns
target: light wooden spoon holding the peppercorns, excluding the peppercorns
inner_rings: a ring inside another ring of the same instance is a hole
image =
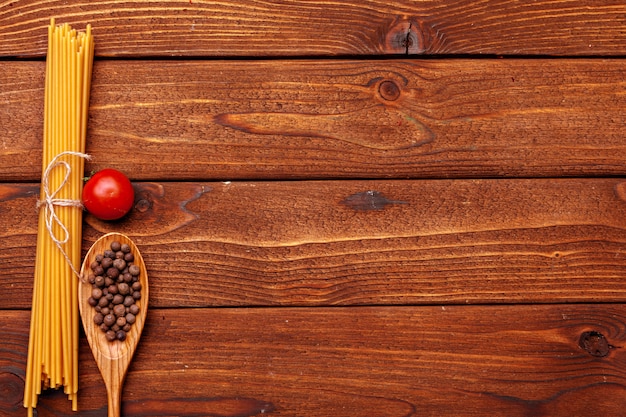
[[[89,304],[92,285],[88,282],[87,277],[92,272],[91,263],[95,260],[96,255],[104,253],[105,250],[111,248],[111,242],[118,241],[121,244],[127,243],[130,246],[131,253],[135,256],[134,264],[139,266],[139,281],[141,282],[141,299],[137,301],[139,305],[139,314],[136,316],[135,323],[131,326],[131,330],[126,335],[126,340],[115,340],[110,342],[100,327],[94,323],[94,315],[96,311]],[[87,252],[83,266],[81,268],[81,276],[78,286],[80,315],[83,321],[83,327],[91,351],[96,359],[100,373],[104,379],[107,389],[107,399],[109,417],[120,416],[120,404],[122,399],[122,386],[126,377],[128,365],[135,353],[137,343],[141,337],[141,331],[146,320],[148,312],[148,274],[143,258],[137,249],[137,246],[121,233],[108,233],[98,239]]]

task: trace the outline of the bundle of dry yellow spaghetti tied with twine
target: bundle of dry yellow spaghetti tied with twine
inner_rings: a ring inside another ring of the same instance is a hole
[[[42,186],[24,407],[64,387],[77,410],[78,272],[85,138],[94,42],[91,27],[48,27]]]

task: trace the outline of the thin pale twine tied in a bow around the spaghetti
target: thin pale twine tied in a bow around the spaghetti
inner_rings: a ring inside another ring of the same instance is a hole
[[[74,275],[76,275],[78,278],[80,278],[80,274],[78,273],[78,271],[74,267],[74,264],[72,264],[72,261],[70,260],[69,256],[65,252],[65,249],[63,249],[63,245],[66,244],[70,240],[70,232],[67,230],[67,227],[63,224],[61,219],[59,219],[59,216],[57,215],[57,213],[56,213],[56,211],[54,209],[55,206],[59,206],[59,207],[77,207],[77,208],[80,208],[80,209],[83,208],[83,204],[80,202],[80,200],[71,200],[71,199],[67,199],[67,198],[58,198],[57,197],[57,194],[59,194],[59,192],[63,189],[63,187],[69,181],[70,174],[72,172],[72,167],[70,166],[70,164],[68,162],[59,160],[62,156],[65,156],[65,155],[76,156],[76,157],[87,159],[87,160],[91,159],[90,155],[87,155],[87,154],[81,153],[81,152],[73,152],[73,151],[61,152],[57,156],[55,156],[50,161],[50,163],[46,167],[45,171],[43,172],[43,175],[42,175],[42,178],[41,178],[41,184],[42,184],[42,188],[43,188],[44,199],[37,201],[37,209],[40,210],[41,208],[43,208],[45,210],[44,216],[45,216],[45,220],[46,220],[46,229],[48,229],[48,233],[50,234],[50,238],[52,239],[54,244],[57,246],[57,248],[59,248],[59,250],[63,254],[63,257],[67,261],[67,264],[72,268],[72,271],[74,272]],[[59,184],[57,189],[54,190],[53,192],[50,192],[50,184],[49,184],[50,183],[50,173],[56,167],[63,167],[63,168],[65,168],[65,176],[63,177],[63,181],[61,181],[61,184]],[[61,231],[63,233],[62,237],[59,237],[59,236],[57,236],[54,233],[53,226],[55,224],[61,229]]]

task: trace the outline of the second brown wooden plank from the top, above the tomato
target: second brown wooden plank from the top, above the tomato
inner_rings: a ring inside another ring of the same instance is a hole
[[[43,78],[41,62],[0,66],[2,181],[39,181]],[[619,60],[99,61],[87,169],[137,180],[620,176],[624,86]]]

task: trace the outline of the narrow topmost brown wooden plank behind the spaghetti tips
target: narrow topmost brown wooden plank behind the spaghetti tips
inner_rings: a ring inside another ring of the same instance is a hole
[[[51,17],[91,23],[100,56],[623,55],[625,14],[615,0],[21,0],[0,5],[0,56],[43,56]]]

